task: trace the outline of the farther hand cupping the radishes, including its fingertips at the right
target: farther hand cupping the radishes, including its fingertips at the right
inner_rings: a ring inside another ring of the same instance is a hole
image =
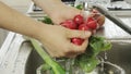
[[[50,16],[50,18],[52,20],[52,22],[55,24],[60,24],[61,22],[64,22],[66,20],[73,20],[73,17],[78,14],[85,16],[83,14],[82,10],[79,10],[74,7],[61,4],[61,7],[53,10],[53,12],[52,13],[50,12],[50,14],[48,14],[48,15]],[[105,23],[105,16],[102,15],[99,12],[97,12],[97,13],[91,12],[90,14],[87,14],[86,17],[88,17],[88,16],[95,17],[97,20],[99,26],[104,25],[104,23]]]

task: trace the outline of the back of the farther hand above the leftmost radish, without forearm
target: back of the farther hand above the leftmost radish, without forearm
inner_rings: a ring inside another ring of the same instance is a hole
[[[78,14],[81,14],[81,10],[62,4],[61,7],[56,9],[53,13],[49,14],[49,16],[55,24],[59,25],[61,22],[64,22],[66,20],[72,20]]]

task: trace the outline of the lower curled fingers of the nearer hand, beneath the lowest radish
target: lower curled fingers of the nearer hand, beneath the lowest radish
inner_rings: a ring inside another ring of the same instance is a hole
[[[53,58],[75,58],[76,55],[84,53],[87,48],[88,40],[83,41],[82,46],[76,46],[74,44],[67,45],[66,49],[62,49],[61,52],[49,52]]]

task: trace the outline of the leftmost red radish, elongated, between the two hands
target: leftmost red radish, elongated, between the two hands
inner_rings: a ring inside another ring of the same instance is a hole
[[[70,29],[76,29],[78,25],[72,21],[72,20],[67,20],[64,22],[62,22],[60,25],[70,28]]]

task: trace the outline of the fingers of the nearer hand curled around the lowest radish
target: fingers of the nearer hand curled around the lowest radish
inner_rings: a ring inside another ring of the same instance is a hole
[[[84,41],[82,42],[81,46],[78,46],[78,45],[74,45],[73,42],[70,42],[71,46],[70,46],[70,52],[67,52],[67,55],[68,58],[74,58],[81,53],[84,53],[86,48],[87,48],[87,45],[88,45],[88,38],[91,37],[91,32],[87,32],[87,30],[69,30],[68,33],[68,37],[69,38],[82,38],[84,39]]]

